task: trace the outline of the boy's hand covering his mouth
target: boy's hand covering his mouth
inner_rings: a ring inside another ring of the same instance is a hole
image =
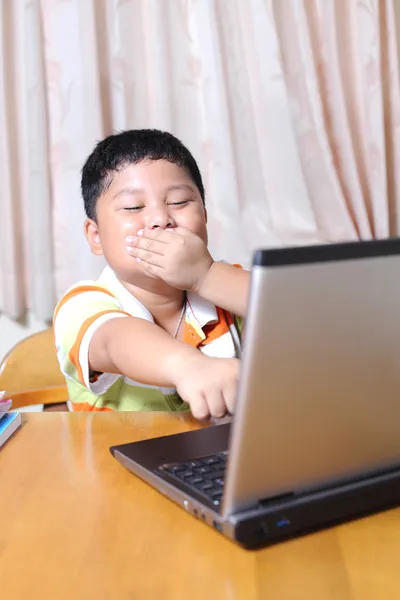
[[[126,243],[144,271],[182,290],[196,291],[214,262],[203,240],[184,227],[143,229]]]

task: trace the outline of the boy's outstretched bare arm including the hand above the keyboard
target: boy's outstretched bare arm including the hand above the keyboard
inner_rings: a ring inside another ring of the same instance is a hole
[[[90,341],[89,364],[93,371],[176,387],[198,419],[222,417],[234,410],[239,361],[210,358],[144,319],[103,323]]]

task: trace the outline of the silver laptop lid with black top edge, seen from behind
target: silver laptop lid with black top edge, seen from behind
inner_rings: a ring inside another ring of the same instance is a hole
[[[256,253],[225,515],[400,463],[399,254]]]

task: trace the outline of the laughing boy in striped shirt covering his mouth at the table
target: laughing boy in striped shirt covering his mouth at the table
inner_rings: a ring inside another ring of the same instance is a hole
[[[109,136],[82,169],[82,195],[86,238],[108,266],[54,315],[74,410],[232,413],[249,273],[208,252],[190,152],[157,130]]]

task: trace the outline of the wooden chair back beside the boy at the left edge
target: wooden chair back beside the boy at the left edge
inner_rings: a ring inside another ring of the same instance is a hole
[[[6,390],[13,408],[44,404],[45,409],[67,410],[68,391],[52,328],[25,338],[10,350],[0,363],[0,390]]]

